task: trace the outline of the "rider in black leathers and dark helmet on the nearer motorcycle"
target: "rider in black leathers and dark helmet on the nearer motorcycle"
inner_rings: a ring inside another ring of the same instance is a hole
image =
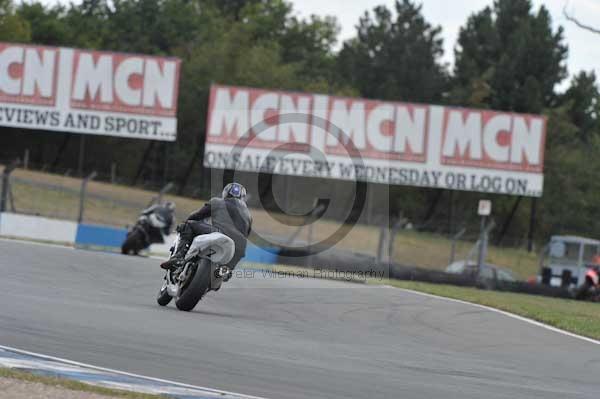
[[[210,223],[205,221],[208,218]],[[230,270],[233,270],[246,254],[246,243],[251,228],[252,216],[246,205],[246,189],[239,183],[230,183],[225,186],[220,198],[212,198],[177,226],[179,233],[177,251],[160,267],[174,270],[183,266],[185,254],[196,236],[219,232],[235,243],[235,254],[227,265]]]

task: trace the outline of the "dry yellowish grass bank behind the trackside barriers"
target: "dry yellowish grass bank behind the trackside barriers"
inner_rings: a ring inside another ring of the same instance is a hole
[[[2,179],[9,182],[5,191],[5,210],[125,227],[136,221],[142,209],[160,199],[177,204],[177,220],[184,220],[204,203],[201,199],[171,195],[168,189],[173,188],[172,186],[166,187],[161,194],[97,181],[94,177],[96,176],[88,175],[86,181],[71,177],[68,171],[49,174],[17,169],[8,179]],[[305,187],[295,192],[302,193],[309,189],[310,187]],[[287,196],[290,198],[289,193]],[[380,196],[377,192],[367,194],[371,201]],[[298,201],[297,198],[294,199]],[[327,242],[343,227],[335,217],[327,215],[324,218],[314,218],[310,223],[282,222],[277,219],[289,216],[274,217],[272,212],[259,207],[257,202],[256,198],[251,201],[254,205],[254,229],[258,235],[275,244],[302,247]],[[380,202],[378,206],[384,205],[384,202]],[[477,259],[479,231],[476,229],[462,229],[453,234],[423,232],[420,226],[414,226],[401,217],[377,221],[369,207],[361,211],[363,214],[359,223],[343,232],[339,242],[335,243],[336,249],[366,254],[379,261],[389,260],[401,265],[436,270],[444,270],[454,261]],[[535,275],[538,269],[537,255],[518,248],[491,246],[487,251],[487,261],[509,268],[520,279]]]

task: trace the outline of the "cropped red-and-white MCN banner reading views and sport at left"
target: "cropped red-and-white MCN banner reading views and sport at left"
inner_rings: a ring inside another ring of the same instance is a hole
[[[0,126],[175,141],[180,61],[0,43]]]

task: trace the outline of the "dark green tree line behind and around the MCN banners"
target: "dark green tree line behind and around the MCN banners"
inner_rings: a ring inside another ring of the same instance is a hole
[[[562,27],[554,28],[549,11],[531,0],[495,0],[474,10],[461,27],[453,66],[443,62],[442,30],[414,0],[365,10],[354,36],[343,43],[335,17],[298,17],[285,0],[83,0],[54,6],[0,0],[0,41],[182,59],[177,142],[140,145],[88,136],[85,170],[109,171],[116,164],[129,184],[175,181],[183,192],[199,194],[195,188],[206,187],[201,158],[211,83],[541,113],[549,124],[545,191],[533,207],[536,237],[600,236],[600,93],[591,71],[572,71],[568,88],[558,90],[569,76]],[[1,142],[3,160],[28,148],[40,167],[77,166],[80,143],[73,135],[3,128]],[[481,197],[390,190],[393,210],[444,232],[457,229],[453,220],[474,222],[467,208]],[[510,236],[521,243],[532,209],[510,197],[498,196],[494,205],[497,240]]]

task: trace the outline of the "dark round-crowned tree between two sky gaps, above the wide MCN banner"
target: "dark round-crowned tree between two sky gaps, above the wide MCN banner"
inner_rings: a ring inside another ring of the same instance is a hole
[[[339,54],[339,70],[363,96],[403,101],[442,101],[447,73],[441,64],[441,27],[429,24],[422,6],[397,0],[365,12],[357,37]]]

